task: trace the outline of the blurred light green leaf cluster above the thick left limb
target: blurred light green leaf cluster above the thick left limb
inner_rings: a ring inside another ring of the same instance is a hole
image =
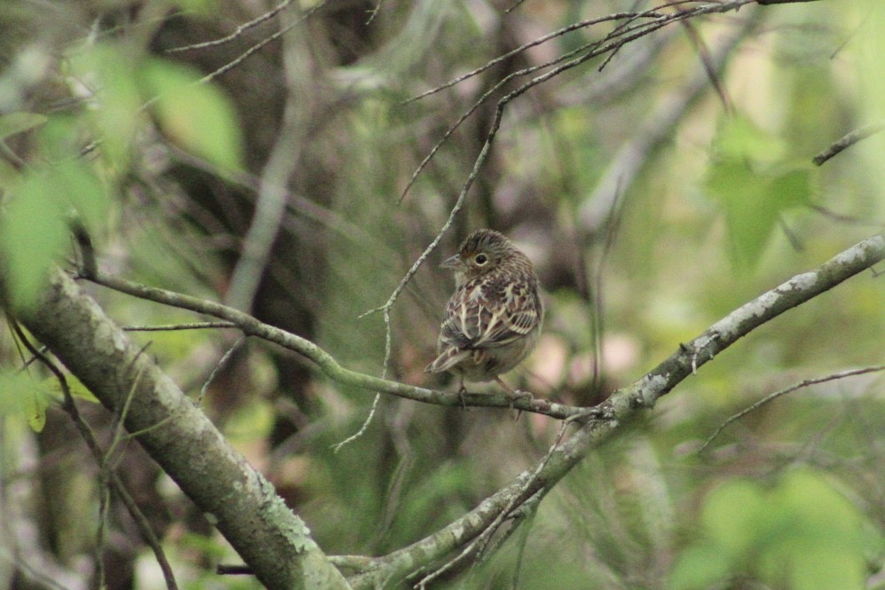
[[[27,165],[0,160],[0,260],[17,311],[34,303],[67,251],[72,217],[91,232],[105,224],[109,193],[133,168],[148,108],[170,142],[222,172],[241,168],[233,106],[198,73],[115,42],[76,51],[64,70],[82,109],[0,116],[0,139],[23,132],[36,138]]]

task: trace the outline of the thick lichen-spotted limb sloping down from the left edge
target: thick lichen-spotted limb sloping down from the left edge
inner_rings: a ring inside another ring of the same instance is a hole
[[[74,279],[53,271],[47,291],[20,322],[111,412],[128,403],[126,429],[266,587],[349,588],[273,484],[227,444],[150,355],[139,354]]]

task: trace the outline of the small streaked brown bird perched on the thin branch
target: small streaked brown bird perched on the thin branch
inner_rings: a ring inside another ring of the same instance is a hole
[[[499,375],[525,360],[541,334],[544,306],[532,261],[502,233],[480,229],[440,267],[454,271],[454,294],[439,326],[438,356],[424,371],[457,375],[461,395],[467,380],[531,397]]]

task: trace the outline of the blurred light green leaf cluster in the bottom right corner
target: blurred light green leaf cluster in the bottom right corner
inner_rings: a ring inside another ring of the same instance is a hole
[[[707,495],[701,534],[676,561],[671,590],[755,578],[796,590],[864,587],[863,517],[823,476],[797,470],[773,486],[731,480]]]

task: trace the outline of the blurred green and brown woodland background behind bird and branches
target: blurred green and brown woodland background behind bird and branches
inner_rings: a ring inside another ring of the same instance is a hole
[[[5,0],[0,252],[12,309],[33,302],[48,266],[73,261],[75,211],[102,269],[240,306],[382,374],[382,315],[360,315],[387,301],[445,223],[495,102],[532,77],[515,73],[615,25],[557,35],[407,99],[571,23],[652,7],[517,4],[294,3],[225,43],[170,52],[273,6]],[[885,134],[821,167],[811,158],[881,122],[882,55],[878,0],[749,5],[669,25],[526,91],[507,104],[439,252],[391,311],[387,374],[454,389],[423,374],[453,288],[437,264],[478,227],[515,240],[546,290],[541,343],[505,380],[571,405],[601,401],[740,304],[880,232]],[[399,202],[446,130],[509,75]],[[256,238],[262,199],[271,233]],[[249,240],[270,248],[252,282]],[[124,326],[199,319],[84,287]],[[215,371],[239,338],[230,330],[132,337],[188,395],[205,389],[206,412],[328,554],[422,539],[540,460],[559,430],[540,415],[383,397],[365,434],[333,452],[360,429],[371,392],[257,341]],[[575,468],[530,527],[436,587],[885,588],[881,372],[796,390],[698,452],[768,393],[883,362],[885,288],[864,273],[701,367]],[[5,329],[0,363],[0,586],[89,587],[98,468],[51,381],[16,374]],[[112,418],[80,394],[107,442]],[[144,452],[129,444],[116,460],[179,586],[257,586],[213,573],[237,556]],[[162,588],[129,518],[116,503],[107,515],[108,587]]]

